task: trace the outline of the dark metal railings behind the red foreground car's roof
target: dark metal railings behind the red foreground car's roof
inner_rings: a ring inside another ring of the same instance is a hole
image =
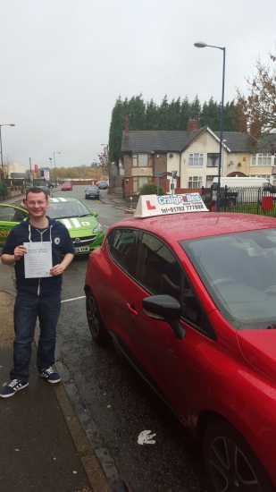
[[[209,210],[215,211],[216,191],[202,189],[202,199]],[[265,187],[221,188],[221,211],[276,217],[276,188]]]

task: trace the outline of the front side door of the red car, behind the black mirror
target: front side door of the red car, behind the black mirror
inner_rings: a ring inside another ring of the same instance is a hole
[[[168,294],[180,301],[185,330],[182,340],[167,322],[146,316],[142,301],[150,294]],[[135,278],[130,278],[126,305],[124,329],[134,363],[141,372],[146,369],[144,376],[151,385],[188,421],[188,406],[205,387],[204,371],[199,370],[202,357],[197,355],[210,343],[200,328],[205,325],[205,312],[180,261],[153,234],[143,233],[139,243],[137,270]]]

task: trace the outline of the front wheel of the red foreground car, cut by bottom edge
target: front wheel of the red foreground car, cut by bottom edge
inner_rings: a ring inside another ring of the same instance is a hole
[[[272,492],[272,481],[238,430],[224,420],[213,420],[205,429],[205,467],[214,492],[256,490]]]

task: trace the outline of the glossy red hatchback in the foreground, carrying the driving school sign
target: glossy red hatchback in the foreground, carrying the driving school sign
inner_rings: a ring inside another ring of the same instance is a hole
[[[275,490],[275,218],[161,207],[90,255],[91,335],[111,336],[177,413],[214,491]]]

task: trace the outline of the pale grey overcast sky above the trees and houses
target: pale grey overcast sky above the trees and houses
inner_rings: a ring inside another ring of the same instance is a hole
[[[3,154],[26,167],[90,165],[120,95],[220,101],[222,51],[197,41],[226,47],[232,100],[276,38],[275,0],[1,0],[0,19]]]

